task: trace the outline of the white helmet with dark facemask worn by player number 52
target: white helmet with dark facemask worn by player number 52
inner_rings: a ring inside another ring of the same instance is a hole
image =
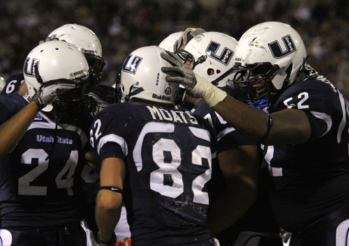
[[[239,39],[234,62],[239,70],[234,84],[247,101],[253,101],[265,93],[274,95],[295,82],[304,69],[306,48],[290,25],[263,22],[248,29]],[[251,85],[264,79],[265,93],[258,95]]]

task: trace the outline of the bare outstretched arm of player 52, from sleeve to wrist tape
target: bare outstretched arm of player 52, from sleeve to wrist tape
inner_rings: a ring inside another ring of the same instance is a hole
[[[311,134],[306,114],[298,109],[283,109],[270,114],[270,124],[267,113],[230,96],[212,108],[232,127],[262,144],[302,144],[308,141]]]

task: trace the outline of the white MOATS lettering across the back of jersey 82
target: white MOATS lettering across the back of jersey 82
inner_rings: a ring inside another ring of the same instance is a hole
[[[196,118],[188,111],[166,110],[155,106],[147,106],[154,120],[171,121],[178,123],[191,123],[198,125]]]

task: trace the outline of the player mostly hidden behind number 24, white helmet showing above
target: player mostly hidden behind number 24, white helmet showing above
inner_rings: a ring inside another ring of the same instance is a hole
[[[111,86],[101,85],[101,77],[105,61],[103,59],[103,50],[101,42],[94,31],[80,24],[64,24],[54,29],[48,34],[47,40],[64,40],[72,45],[75,45],[87,59],[89,63],[89,82],[87,84],[87,97],[85,97],[85,106],[89,110],[92,117],[107,106],[112,100],[107,98],[110,92],[114,92]],[[89,169],[89,166],[84,167],[82,174],[82,189],[81,194],[87,192],[88,203],[84,206],[89,227],[94,231],[96,236],[98,232],[97,224],[94,220],[94,206],[96,192],[98,191],[98,176]]]

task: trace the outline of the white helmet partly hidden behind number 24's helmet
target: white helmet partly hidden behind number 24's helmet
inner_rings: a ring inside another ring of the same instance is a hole
[[[86,56],[90,66],[90,75],[94,77],[95,82],[101,80],[105,61],[102,58],[102,45],[96,34],[86,26],[79,24],[65,24],[52,31],[47,39],[64,40],[75,45]]]

